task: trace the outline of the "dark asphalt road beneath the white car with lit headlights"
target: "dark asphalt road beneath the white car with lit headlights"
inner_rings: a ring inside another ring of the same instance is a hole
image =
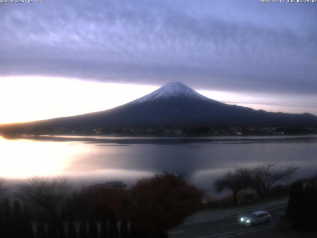
[[[274,237],[274,227],[280,217],[285,213],[286,205],[265,209],[272,217],[269,224],[245,227],[239,223],[241,215],[228,218],[216,219],[204,222],[183,224],[168,232],[169,238],[249,238],[249,237]],[[278,233],[278,232],[277,232]],[[281,237],[281,235],[276,235]]]

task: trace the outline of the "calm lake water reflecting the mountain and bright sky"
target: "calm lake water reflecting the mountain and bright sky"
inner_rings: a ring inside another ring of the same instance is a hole
[[[259,137],[0,137],[0,177],[65,175],[76,181],[119,179],[131,184],[163,171],[185,174],[210,188],[228,169],[264,162],[299,167],[296,178],[317,173],[317,136]]]

